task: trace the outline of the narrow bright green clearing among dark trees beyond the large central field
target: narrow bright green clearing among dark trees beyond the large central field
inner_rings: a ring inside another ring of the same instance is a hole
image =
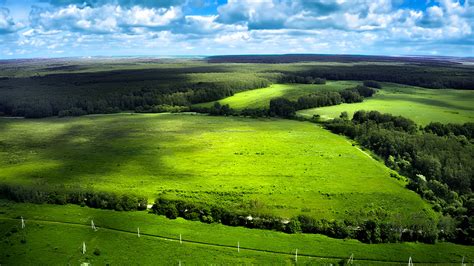
[[[284,97],[297,100],[299,97],[320,91],[338,91],[354,87],[361,82],[357,81],[328,81],[326,84],[273,84],[270,87],[236,93],[233,96],[219,100],[219,103],[228,104],[231,108],[268,108],[270,100]],[[200,107],[210,107],[214,102],[196,104]]]

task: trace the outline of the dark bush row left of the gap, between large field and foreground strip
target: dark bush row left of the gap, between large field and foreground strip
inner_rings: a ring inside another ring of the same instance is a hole
[[[116,211],[146,210],[147,198],[92,189],[41,188],[0,184],[0,198],[37,204],[77,204]]]

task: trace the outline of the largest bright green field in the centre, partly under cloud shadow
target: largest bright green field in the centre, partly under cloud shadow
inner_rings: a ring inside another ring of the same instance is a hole
[[[308,123],[186,114],[1,119],[0,182],[158,195],[251,214],[404,224],[430,206],[383,163]],[[350,204],[349,204],[350,203]]]

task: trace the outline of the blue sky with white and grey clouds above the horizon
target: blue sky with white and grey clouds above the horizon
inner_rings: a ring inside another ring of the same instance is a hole
[[[0,58],[474,56],[474,0],[0,0]]]

